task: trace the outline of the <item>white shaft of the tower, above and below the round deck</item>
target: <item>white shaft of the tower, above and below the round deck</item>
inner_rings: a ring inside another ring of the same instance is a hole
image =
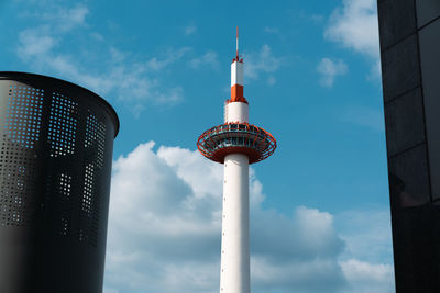
[[[231,65],[232,99],[226,105],[224,123],[249,123],[248,103],[233,99],[237,87],[243,87],[240,61]],[[229,154],[224,157],[220,293],[250,293],[250,274],[249,158]]]

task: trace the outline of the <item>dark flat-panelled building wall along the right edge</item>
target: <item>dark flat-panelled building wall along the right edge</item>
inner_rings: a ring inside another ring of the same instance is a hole
[[[377,7],[396,292],[440,292],[440,1]]]

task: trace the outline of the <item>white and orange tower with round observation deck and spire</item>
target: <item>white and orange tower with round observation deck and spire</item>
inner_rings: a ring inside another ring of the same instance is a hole
[[[243,65],[237,29],[231,99],[226,101],[224,124],[206,131],[197,140],[205,157],[224,165],[220,293],[250,292],[249,165],[264,160],[276,148],[276,140],[268,132],[249,124]]]

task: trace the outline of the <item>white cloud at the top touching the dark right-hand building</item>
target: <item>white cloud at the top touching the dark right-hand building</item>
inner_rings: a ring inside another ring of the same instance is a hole
[[[324,36],[346,48],[378,59],[376,2],[375,0],[343,0],[342,7],[337,8],[330,16]]]

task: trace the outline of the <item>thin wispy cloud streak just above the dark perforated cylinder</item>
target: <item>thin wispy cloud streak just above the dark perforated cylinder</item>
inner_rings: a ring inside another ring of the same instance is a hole
[[[88,65],[76,57],[58,53],[59,41],[43,29],[30,29],[20,34],[18,55],[23,61],[32,61],[35,69],[56,72],[98,94],[116,94],[135,115],[140,115],[146,104],[173,105],[183,100],[182,87],[163,89],[161,81],[148,75],[145,64],[127,61],[125,55],[113,47],[108,53],[107,68],[89,70]]]

